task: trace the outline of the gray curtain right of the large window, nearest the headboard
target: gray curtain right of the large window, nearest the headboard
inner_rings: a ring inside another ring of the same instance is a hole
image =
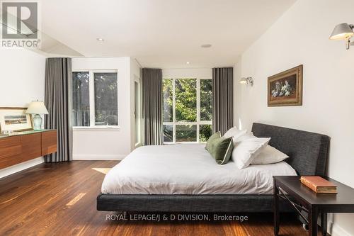
[[[212,131],[222,135],[234,126],[234,69],[212,68]]]

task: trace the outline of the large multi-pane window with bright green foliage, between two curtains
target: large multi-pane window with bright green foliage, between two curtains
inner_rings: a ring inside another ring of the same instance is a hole
[[[163,80],[164,142],[206,142],[212,134],[212,80]]]

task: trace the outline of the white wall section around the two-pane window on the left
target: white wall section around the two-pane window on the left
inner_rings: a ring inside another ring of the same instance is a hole
[[[134,101],[131,93],[130,57],[73,58],[72,69],[116,69],[118,71],[119,129],[74,129],[73,159],[123,159],[133,149]],[[134,84],[133,84],[134,85]],[[133,128],[132,128],[133,126]]]

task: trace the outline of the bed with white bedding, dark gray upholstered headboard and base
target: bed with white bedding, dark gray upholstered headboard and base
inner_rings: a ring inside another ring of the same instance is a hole
[[[253,123],[286,162],[236,169],[217,165],[205,145],[139,147],[105,176],[97,209],[130,212],[271,212],[273,176],[324,175],[329,137]],[[282,211],[289,211],[286,205]]]

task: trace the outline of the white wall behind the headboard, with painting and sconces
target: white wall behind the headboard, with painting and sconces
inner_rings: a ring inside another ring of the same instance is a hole
[[[354,23],[353,0],[299,0],[241,56],[236,124],[253,122],[331,137],[329,176],[354,188],[354,47],[329,40],[338,23]],[[303,106],[267,107],[267,77],[304,64]],[[354,235],[354,215],[334,215],[332,235]]]

